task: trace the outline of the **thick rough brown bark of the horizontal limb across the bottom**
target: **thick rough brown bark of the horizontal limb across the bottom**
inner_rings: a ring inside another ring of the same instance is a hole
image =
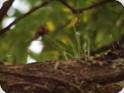
[[[117,83],[124,80],[124,56],[113,56],[0,65],[0,84],[7,93],[118,93]]]

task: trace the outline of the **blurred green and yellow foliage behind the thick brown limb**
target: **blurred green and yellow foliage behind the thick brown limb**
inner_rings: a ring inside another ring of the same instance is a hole
[[[44,0],[43,0],[44,1]],[[28,0],[32,7],[42,0]],[[75,8],[87,7],[101,0],[68,0]],[[20,16],[18,11],[15,16]],[[59,1],[43,7],[0,36],[0,60],[6,63],[26,63],[27,55],[38,62],[44,60],[68,60],[90,54],[109,44],[123,34],[124,8],[112,2],[74,15]],[[63,26],[63,24],[65,24]],[[49,33],[43,37],[43,51],[29,51],[31,39],[38,27],[44,25]],[[63,26],[62,28],[61,25]]]

